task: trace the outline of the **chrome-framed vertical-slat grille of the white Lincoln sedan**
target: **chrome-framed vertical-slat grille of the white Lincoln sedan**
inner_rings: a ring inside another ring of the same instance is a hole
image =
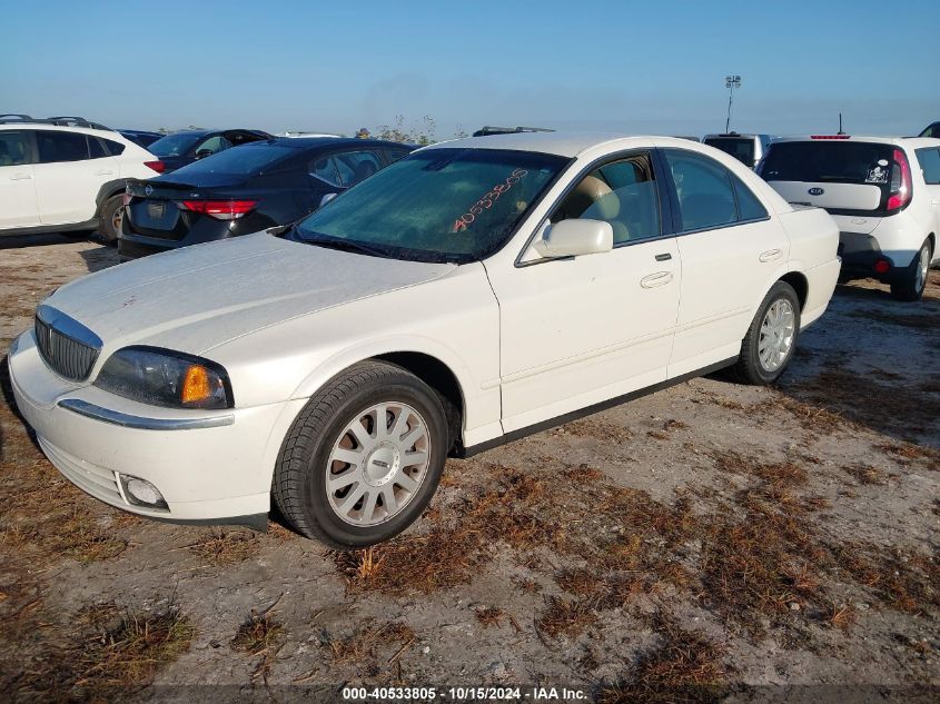
[[[39,354],[50,369],[72,381],[88,378],[101,349],[97,335],[49,306],[37,309],[34,330]]]

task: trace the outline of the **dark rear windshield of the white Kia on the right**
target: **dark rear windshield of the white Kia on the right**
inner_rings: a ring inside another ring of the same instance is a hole
[[[765,181],[859,184],[888,188],[891,145],[850,141],[790,141],[771,145],[760,167]]]

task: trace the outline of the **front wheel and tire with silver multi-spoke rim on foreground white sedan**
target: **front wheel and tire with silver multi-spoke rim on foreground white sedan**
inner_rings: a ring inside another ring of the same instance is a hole
[[[339,549],[375,545],[427,507],[449,445],[434,389],[396,365],[364,361],[304,407],[284,440],[271,493],[301,535]]]

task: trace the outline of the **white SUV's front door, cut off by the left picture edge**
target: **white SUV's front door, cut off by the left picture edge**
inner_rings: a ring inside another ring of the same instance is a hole
[[[0,230],[39,225],[29,130],[0,130]]]

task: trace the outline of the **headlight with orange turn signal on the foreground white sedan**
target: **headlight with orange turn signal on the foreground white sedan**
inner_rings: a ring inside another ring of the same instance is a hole
[[[125,347],[108,358],[95,386],[170,408],[231,408],[231,385],[214,361],[158,347]]]

